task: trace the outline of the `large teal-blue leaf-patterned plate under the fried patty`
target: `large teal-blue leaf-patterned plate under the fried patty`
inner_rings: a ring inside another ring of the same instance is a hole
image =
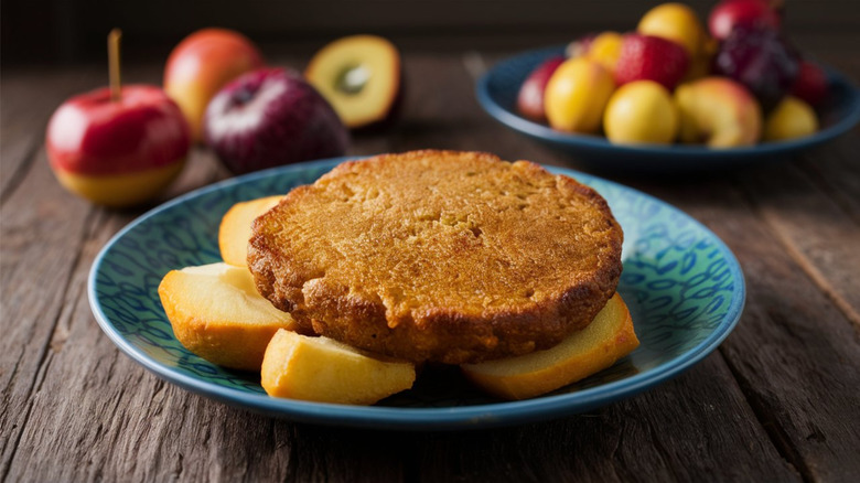
[[[620,184],[550,168],[598,190],[624,228],[619,291],[642,341],[634,353],[578,384],[517,402],[482,395],[455,368],[426,372],[413,389],[373,407],[270,398],[260,387],[259,374],[225,369],[187,352],[173,336],[157,288],[171,269],[221,260],[218,224],[234,203],[311,183],[343,160],[227,180],[131,223],[105,246],[89,275],[89,301],[101,329],[159,377],[234,406],[299,421],[439,430],[558,418],[632,396],[699,362],[741,315],[745,297],[741,268],[701,224]]]

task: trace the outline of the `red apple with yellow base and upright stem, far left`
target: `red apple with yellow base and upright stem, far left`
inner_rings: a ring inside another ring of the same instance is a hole
[[[105,87],[61,105],[47,125],[47,157],[60,183],[94,203],[129,206],[166,186],[191,147],[176,104],[155,86]]]

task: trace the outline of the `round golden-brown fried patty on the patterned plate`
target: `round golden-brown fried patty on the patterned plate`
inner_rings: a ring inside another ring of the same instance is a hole
[[[254,222],[260,293],[304,331],[412,362],[558,344],[615,292],[606,202],[527,161],[415,151],[345,162]]]

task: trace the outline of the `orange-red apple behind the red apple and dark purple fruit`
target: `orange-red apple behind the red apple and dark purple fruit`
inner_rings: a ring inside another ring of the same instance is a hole
[[[238,32],[203,29],[173,49],[164,68],[164,90],[182,108],[194,139],[203,139],[203,115],[228,82],[264,66],[257,47]]]

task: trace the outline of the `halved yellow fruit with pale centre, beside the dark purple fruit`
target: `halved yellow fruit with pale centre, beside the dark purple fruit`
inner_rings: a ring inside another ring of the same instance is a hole
[[[352,35],[318,52],[304,77],[348,128],[385,120],[400,93],[400,54],[376,35]]]

